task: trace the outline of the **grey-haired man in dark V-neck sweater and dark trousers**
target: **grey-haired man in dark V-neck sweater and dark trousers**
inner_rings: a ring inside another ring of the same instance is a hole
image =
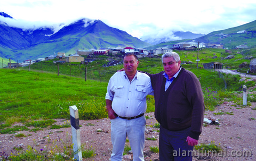
[[[175,52],[162,56],[164,71],[149,74],[155,117],[161,124],[159,160],[192,160],[204,118],[204,97],[196,75],[180,66]]]

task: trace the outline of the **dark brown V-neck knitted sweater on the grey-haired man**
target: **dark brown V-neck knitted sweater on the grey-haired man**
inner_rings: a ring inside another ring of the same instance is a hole
[[[155,96],[155,117],[163,128],[180,131],[191,126],[189,137],[198,140],[204,119],[204,97],[196,75],[181,69],[164,91],[164,71],[149,74]]]

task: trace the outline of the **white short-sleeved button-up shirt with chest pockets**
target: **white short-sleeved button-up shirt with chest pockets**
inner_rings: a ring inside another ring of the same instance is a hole
[[[130,82],[124,71],[116,72],[108,82],[106,99],[118,116],[133,117],[146,112],[147,95],[154,95],[150,78],[138,72]]]

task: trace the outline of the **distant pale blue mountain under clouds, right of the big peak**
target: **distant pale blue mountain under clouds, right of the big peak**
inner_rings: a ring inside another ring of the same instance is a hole
[[[192,32],[183,32],[183,31],[170,31],[168,35],[164,35],[162,37],[159,36],[147,36],[142,37],[141,39],[149,44],[157,45],[161,43],[165,43],[168,41],[176,41],[176,40],[183,40],[183,39],[195,39],[198,37],[202,37],[204,34],[201,33],[192,33]]]

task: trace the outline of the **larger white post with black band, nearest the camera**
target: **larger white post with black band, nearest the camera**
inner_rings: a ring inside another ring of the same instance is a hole
[[[69,106],[69,113],[70,113],[70,124],[71,124],[71,131],[72,131],[73,151],[75,154],[74,158],[76,160],[82,161],[83,158],[82,158],[79,117],[78,117],[77,107]]]

